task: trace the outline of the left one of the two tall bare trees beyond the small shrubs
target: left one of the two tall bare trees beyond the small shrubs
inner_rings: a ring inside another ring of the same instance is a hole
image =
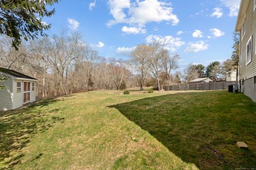
[[[145,44],[141,44],[138,45],[135,50],[131,53],[131,62],[132,64],[135,66],[136,70],[138,70],[139,74],[137,75],[138,78],[138,82],[140,83],[140,90],[143,90],[143,86],[145,83],[145,79],[147,77],[148,74],[148,70],[149,70],[149,49],[150,47],[145,45]]]

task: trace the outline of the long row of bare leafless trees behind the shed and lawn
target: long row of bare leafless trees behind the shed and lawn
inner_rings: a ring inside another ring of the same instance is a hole
[[[35,41],[24,41],[19,45],[19,50],[12,47],[12,39],[2,37],[0,67],[17,70],[37,78],[37,95],[41,96],[100,89],[122,90],[140,86],[142,79],[143,86],[160,85],[166,78],[171,82],[171,74],[166,77],[162,76],[163,72],[161,73],[164,71],[163,68],[170,72],[167,70],[171,62],[168,60],[169,53],[160,43],[157,46],[154,44],[147,47],[154,51],[148,51],[151,55],[150,58],[145,58],[147,60],[143,65],[145,72],[141,76],[136,67],[138,66],[138,63],[135,63],[136,58],[125,61],[99,56],[98,51],[82,41],[79,33],[71,35],[61,33]],[[172,68],[177,67],[172,66]],[[148,70],[151,70],[155,77],[151,76]]]

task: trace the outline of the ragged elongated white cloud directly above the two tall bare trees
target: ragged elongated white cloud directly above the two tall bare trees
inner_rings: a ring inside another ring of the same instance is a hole
[[[185,45],[185,42],[181,40],[181,38],[174,38],[172,36],[157,36],[157,35],[149,35],[146,37],[146,42],[148,44],[153,43],[154,41],[159,41],[165,45],[165,48],[171,52],[177,51],[177,48]]]

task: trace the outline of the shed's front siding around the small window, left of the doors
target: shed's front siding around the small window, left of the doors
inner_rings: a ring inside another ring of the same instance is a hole
[[[17,93],[17,82],[21,82],[21,93]],[[22,107],[23,104],[23,81],[13,80],[13,104],[12,109]]]

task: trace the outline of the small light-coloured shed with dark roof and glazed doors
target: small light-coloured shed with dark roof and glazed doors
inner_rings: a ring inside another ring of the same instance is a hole
[[[0,110],[13,110],[23,104],[36,101],[37,79],[21,74],[20,72],[0,67],[0,81],[4,89],[0,90]]]

